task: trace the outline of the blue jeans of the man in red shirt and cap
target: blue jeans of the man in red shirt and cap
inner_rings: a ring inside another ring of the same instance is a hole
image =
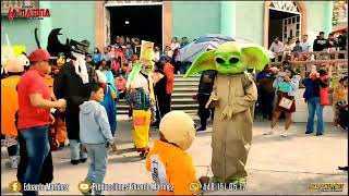
[[[20,130],[26,143],[27,166],[23,182],[38,184],[44,160],[50,150],[48,125]]]

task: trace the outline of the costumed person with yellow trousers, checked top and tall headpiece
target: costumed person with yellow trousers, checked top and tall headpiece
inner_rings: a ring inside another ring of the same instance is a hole
[[[149,150],[149,128],[155,117],[153,47],[154,42],[142,41],[140,62],[133,64],[127,83],[127,102],[133,108],[133,140],[142,159]]]

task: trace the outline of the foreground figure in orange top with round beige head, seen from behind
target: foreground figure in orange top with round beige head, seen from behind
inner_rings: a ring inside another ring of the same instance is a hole
[[[146,158],[146,169],[152,172],[155,183],[168,188],[158,191],[158,195],[195,195],[202,187],[192,158],[184,151],[194,137],[194,121],[186,113],[171,111],[164,115],[160,140],[154,142],[154,149]]]

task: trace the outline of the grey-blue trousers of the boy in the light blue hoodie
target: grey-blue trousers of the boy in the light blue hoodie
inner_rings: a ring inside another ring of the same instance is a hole
[[[86,181],[91,184],[101,184],[108,164],[108,148],[106,144],[86,144],[86,148],[91,160]],[[100,194],[100,191],[95,191],[95,195]]]

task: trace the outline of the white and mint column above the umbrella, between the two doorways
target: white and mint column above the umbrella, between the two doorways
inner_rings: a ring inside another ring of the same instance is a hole
[[[220,3],[220,34],[236,36],[236,1],[221,1]]]

